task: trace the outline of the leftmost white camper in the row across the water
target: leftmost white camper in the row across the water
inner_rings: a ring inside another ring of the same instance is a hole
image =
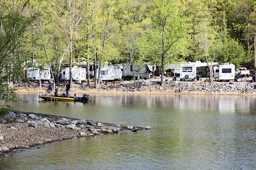
[[[27,79],[49,81],[51,80],[50,68],[40,69],[38,67],[27,68]]]

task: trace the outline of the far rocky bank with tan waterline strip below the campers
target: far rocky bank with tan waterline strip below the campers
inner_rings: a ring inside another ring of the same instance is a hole
[[[42,84],[42,91],[48,87]],[[26,87],[14,87],[18,93],[37,92],[38,84],[26,85]],[[59,94],[65,93],[65,84],[59,86]],[[23,89],[23,91],[22,91]],[[138,82],[138,88],[135,89],[133,81],[121,83],[101,83],[100,88],[89,88],[86,84],[73,84],[71,93],[123,93],[136,92],[144,94],[172,94],[179,92],[180,94],[256,94],[256,83],[254,82],[203,82],[203,81],[171,81],[166,79],[164,86],[160,86],[160,81],[150,79]]]

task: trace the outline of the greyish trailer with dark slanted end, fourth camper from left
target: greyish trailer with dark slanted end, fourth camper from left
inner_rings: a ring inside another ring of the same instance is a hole
[[[132,68],[132,64],[130,63],[119,63],[114,64],[118,68],[121,68],[122,71],[122,79],[123,80],[132,80],[133,79],[133,70],[135,72],[135,77],[139,75],[141,79],[150,79],[153,75],[153,69],[156,70],[156,65],[144,63],[140,65],[135,65],[134,68]]]

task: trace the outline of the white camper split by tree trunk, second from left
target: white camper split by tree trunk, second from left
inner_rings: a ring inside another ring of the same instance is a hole
[[[70,69],[69,67],[65,67],[65,69],[61,70],[61,79],[65,81],[70,80]],[[81,67],[72,67],[72,80],[76,83],[82,84],[86,81],[86,68]]]

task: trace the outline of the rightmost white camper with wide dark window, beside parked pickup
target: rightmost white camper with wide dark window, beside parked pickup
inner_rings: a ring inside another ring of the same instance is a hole
[[[235,77],[235,66],[234,64],[225,63],[219,67],[214,68],[214,78],[222,80],[234,80]]]

